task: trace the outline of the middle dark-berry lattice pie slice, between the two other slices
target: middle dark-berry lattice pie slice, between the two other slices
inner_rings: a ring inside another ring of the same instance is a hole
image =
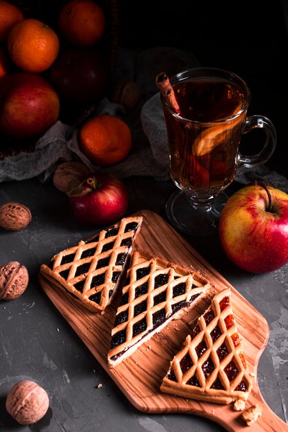
[[[144,251],[132,254],[127,277],[112,328],[110,367],[196,304],[210,287],[200,274]]]

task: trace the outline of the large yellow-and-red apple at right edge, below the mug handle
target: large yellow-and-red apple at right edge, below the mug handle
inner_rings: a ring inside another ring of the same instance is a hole
[[[219,237],[227,257],[250,273],[288,262],[288,195],[271,186],[245,186],[225,204]]]

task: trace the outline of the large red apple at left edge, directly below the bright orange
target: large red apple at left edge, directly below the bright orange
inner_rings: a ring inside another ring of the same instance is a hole
[[[0,80],[0,132],[15,139],[40,137],[59,117],[59,97],[48,81],[30,72]]]

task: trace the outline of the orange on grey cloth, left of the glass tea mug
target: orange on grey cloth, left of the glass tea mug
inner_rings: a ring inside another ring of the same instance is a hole
[[[113,115],[96,115],[79,131],[82,153],[99,166],[118,164],[130,152],[132,133],[125,121]]]

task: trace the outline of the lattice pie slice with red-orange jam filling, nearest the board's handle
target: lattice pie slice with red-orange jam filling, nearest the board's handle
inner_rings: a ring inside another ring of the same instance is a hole
[[[247,400],[252,384],[230,297],[229,288],[220,291],[193,322],[161,391],[222,404]]]

